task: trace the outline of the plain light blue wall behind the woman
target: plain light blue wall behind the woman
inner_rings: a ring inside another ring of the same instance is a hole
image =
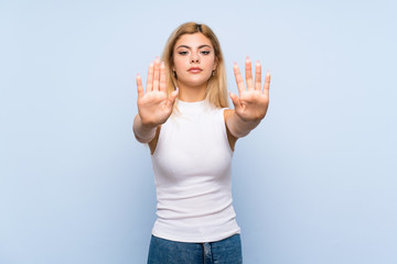
[[[181,23],[272,74],[237,143],[245,263],[397,263],[395,1],[0,1],[0,263],[144,263],[149,150],[131,124]]]

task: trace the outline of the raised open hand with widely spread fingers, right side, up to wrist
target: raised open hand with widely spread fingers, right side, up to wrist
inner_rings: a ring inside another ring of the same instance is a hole
[[[260,121],[265,118],[269,106],[269,87],[270,87],[270,73],[268,72],[265,77],[264,89],[261,88],[261,66],[257,62],[255,66],[255,81],[253,79],[251,62],[247,57],[245,62],[245,77],[246,85],[244,84],[242,73],[237,66],[234,65],[234,74],[236,77],[238,95],[229,92],[233,105],[235,106],[235,113],[244,122]]]

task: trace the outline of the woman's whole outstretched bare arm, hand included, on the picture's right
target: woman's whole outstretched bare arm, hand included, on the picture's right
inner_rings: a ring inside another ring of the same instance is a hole
[[[234,65],[238,95],[229,92],[235,109],[226,119],[229,132],[236,138],[246,136],[265,118],[269,106],[270,73],[266,74],[264,89],[261,88],[261,66],[257,62],[255,66],[255,81],[253,79],[251,62],[247,57],[245,62],[244,84],[237,64]]]

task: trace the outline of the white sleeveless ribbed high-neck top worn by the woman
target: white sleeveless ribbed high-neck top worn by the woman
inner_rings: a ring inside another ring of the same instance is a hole
[[[183,102],[161,127],[152,155],[157,215],[152,234],[213,242],[239,233],[232,205],[232,157],[224,110]]]

